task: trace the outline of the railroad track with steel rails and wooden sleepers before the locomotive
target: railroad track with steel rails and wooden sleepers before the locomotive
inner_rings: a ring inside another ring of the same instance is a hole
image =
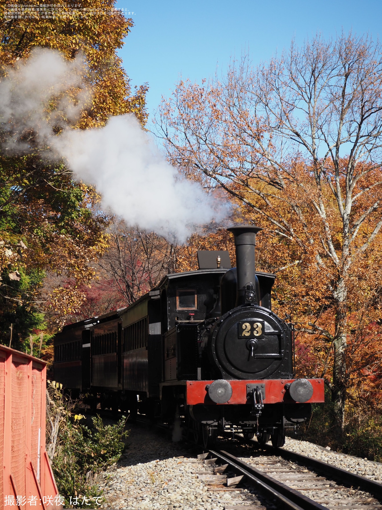
[[[198,456],[200,460],[204,459],[209,469],[208,473],[199,473],[199,476],[210,490],[239,490],[244,483],[247,489],[252,486],[269,501],[266,506],[262,502],[232,507],[237,510],[274,508],[275,504],[285,510],[382,509],[378,501],[381,484],[304,455],[293,453],[289,456],[290,453],[272,450],[244,462],[229,452],[211,449]],[[326,474],[321,476],[324,468]]]

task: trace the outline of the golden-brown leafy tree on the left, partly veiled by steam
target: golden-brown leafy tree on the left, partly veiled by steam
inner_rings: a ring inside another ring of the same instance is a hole
[[[68,61],[81,54],[89,94],[72,127],[99,127],[110,116],[128,112],[144,124],[147,86],[131,91],[116,53],[132,20],[115,10],[114,0],[84,0],[74,9],[62,0],[35,3],[47,5],[59,8],[57,16],[46,19],[37,9],[32,18],[2,16],[0,79],[37,46],[59,50]],[[0,9],[7,7],[8,2]],[[4,121],[0,128],[4,142]],[[0,152],[0,341],[9,343],[13,324],[19,347],[31,329],[44,327],[42,312],[59,325],[78,310],[86,297],[84,285],[94,277],[94,264],[107,244],[108,219],[96,212],[100,197],[90,186],[73,181],[65,162],[48,162],[30,135],[27,154],[8,155],[4,146]],[[57,286],[44,294],[47,273],[59,278],[51,279]]]

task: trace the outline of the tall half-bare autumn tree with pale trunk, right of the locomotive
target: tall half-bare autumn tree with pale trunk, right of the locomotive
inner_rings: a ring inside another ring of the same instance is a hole
[[[278,273],[299,374],[325,377],[339,437],[346,398],[380,380],[381,85],[379,42],[317,36],[180,81],[156,116],[171,161],[265,227],[259,267]]]

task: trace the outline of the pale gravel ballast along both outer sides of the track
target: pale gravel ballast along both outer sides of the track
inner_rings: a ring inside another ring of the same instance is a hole
[[[240,492],[209,490],[197,475],[206,471],[206,466],[196,460],[196,450],[189,450],[182,443],[171,443],[167,435],[155,428],[141,424],[129,428],[127,448],[120,461],[98,478],[106,500],[101,508],[223,510],[262,503],[261,497],[245,488]],[[224,445],[221,447],[224,449]],[[286,438],[284,448],[382,481],[382,464],[291,438]],[[255,451],[248,449],[248,459],[256,455]],[[240,457],[245,461],[243,453]]]

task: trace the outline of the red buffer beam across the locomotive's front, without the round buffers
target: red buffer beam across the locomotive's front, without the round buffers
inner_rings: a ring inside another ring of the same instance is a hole
[[[246,404],[247,385],[257,384],[265,385],[264,404],[275,404],[277,402],[293,403],[294,400],[285,390],[287,383],[293,382],[295,379],[263,379],[263,380],[229,380],[232,386],[232,397],[228,400],[228,404]],[[308,402],[324,402],[324,381],[323,379],[308,379],[313,386],[313,396]],[[209,381],[186,381],[186,398],[188,405],[196,404],[215,404],[208,397],[207,386],[213,382]]]

